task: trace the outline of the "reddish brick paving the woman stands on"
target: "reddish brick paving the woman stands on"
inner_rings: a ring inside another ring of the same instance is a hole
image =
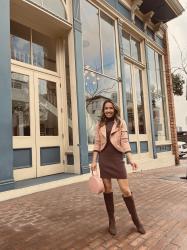
[[[140,235],[113,181],[118,233],[107,232],[102,195],[87,182],[71,184],[0,203],[1,250],[187,250],[187,159],[180,167],[129,174],[138,213],[147,233]]]

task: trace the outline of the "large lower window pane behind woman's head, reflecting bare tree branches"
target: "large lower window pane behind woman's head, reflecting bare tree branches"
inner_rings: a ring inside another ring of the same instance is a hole
[[[118,82],[100,76],[90,71],[85,71],[85,95],[87,114],[88,143],[93,144],[95,125],[100,118],[103,102],[110,98],[118,103]]]

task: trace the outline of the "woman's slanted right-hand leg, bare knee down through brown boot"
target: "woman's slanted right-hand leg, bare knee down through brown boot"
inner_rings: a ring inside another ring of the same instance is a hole
[[[134,199],[132,196],[132,193],[129,188],[129,183],[127,179],[118,179],[118,184],[120,186],[121,192],[122,192],[122,197],[123,200],[127,206],[127,209],[131,215],[131,218],[137,228],[137,231],[141,234],[145,234],[145,230],[143,228],[142,223],[140,222],[137,212],[136,212],[136,207],[134,203]]]

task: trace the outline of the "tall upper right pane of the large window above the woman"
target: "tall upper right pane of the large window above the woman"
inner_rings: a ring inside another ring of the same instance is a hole
[[[114,21],[104,13],[101,13],[101,37],[104,74],[116,77],[117,69]]]

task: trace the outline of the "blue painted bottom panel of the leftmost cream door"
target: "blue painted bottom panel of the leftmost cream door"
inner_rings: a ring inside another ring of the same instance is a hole
[[[32,149],[22,148],[13,151],[14,168],[30,168],[32,167]]]

